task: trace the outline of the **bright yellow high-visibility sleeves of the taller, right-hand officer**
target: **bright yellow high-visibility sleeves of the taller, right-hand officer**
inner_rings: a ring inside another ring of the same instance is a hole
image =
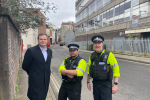
[[[105,52],[105,50],[102,51],[101,55]],[[100,55],[100,56],[101,56]],[[91,55],[89,56],[89,62],[88,62],[88,70],[87,70],[87,74],[89,74],[89,67],[91,65]],[[113,77],[120,77],[120,72],[119,72],[119,65],[118,62],[115,58],[115,56],[113,55],[112,52],[109,53],[108,59],[107,59],[107,64],[109,64],[110,66],[112,66],[113,69]]]

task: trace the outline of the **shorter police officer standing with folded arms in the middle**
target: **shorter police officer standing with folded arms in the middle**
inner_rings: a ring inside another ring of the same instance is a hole
[[[81,80],[86,70],[86,61],[78,55],[79,45],[69,44],[71,57],[67,57],[60,65],[62,85],[59,90],[58,100],[81,100]]]

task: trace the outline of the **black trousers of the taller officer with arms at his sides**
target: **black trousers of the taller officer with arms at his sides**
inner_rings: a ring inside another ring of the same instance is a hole
[[[112,100],[112,80],[93,80],[94,100]]]

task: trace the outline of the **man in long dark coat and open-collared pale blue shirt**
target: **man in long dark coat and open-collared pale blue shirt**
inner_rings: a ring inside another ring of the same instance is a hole
[[[47,48],[47,34],[38,35],[38,45],[27,49],[22,64],[29,75],[28,98],[45,100],[50,82],[52,50]]]

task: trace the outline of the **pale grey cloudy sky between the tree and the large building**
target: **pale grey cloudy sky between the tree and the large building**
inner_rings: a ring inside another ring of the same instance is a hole
[[[49,18],[48,22],[52,22],[57,27],[61,27],[62,22],[73,21],[75,22],[75,1],[76,0],[43,0],[44,2],[54,3],[59,6],[56,13],[50,11],[46,14]]]

